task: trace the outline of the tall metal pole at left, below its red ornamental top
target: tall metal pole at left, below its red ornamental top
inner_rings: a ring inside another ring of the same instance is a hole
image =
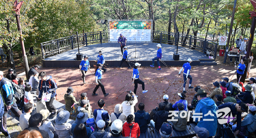
[[[19,41],[20,41],[20,46],[21,46],[21,51],[22,51],[22,58],[23,58],[23,64],[24,64],[24,69],[25,69],[25,73],[26,73],[26,79],[29,79],[28,76],[28,70],[29,70],[29,66],[28,66],[28,62],[27,62],[27,58],[26,58],[26,51],[25,51],[25,47],[24,47],[24,42],[23,42],[23,37],[22,37],[22,31],[20,29],[20,22],[19,22],[19,15],[15,15],[16,17],[16,21],[17,21],[17,28],[19,31]]]

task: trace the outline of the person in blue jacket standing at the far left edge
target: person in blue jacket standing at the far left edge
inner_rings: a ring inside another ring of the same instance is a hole
[[[12,71],[13,72],[13,71]],[[4,78],[4,73],[0,71],[0,91],[2,99],[4,100],[4,129],[7,128],[7,114],[8,111],[11,109],[11,112],[14,113],[16,116],[20,116],[22,113],[18,109],[18,106],[16,104],[16,99],[14,98],[14,91],[13,87],[11,85],[11,82]],[[2,106],[1,106],[2,107]]]

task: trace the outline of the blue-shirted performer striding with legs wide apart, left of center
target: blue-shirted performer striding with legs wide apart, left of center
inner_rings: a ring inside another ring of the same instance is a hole
[[[99,87],[102,88],[102,92],[104,94],[104,96],[108,96],[109,93],[106,94],[105,92],[105,88],[104,88],[104,85],[102,84],[102,64],[97,64],[98,65],[98,68],[97,71],[96,71],[96,74],[95,74],[95,79],[96,79],[96,87],[94,88],[94,91],[92,93],[93,96],[97,96],[98,94],[96,94],[96,91],[98,90]]]

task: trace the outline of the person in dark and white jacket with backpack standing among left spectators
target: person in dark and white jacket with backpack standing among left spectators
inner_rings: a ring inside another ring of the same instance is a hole
[[[39,89],[38,99],[42,98],[43,93],[51,94],[50,101],[45,102],[45,104],[46,104],[47,109],[51,113],[51,115],[49,116],[49,119],[52,119],[54,116],[56,116],[56,108],[53,105],[53,100],[56,96],[56,89],[58,87],[57,87],[55,80],[53,80],[53,77],[46,76],[46,73],[44,71],[39,73],[38,76],[41,79],[39,82],[39,87],[38,87],[38,89]]]

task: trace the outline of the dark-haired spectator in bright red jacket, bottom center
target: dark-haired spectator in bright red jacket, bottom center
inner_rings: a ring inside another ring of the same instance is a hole
[[[123,126],[123,137],[139,138],[139,134],[139,124],[134,122],[133,115],[127,116],[127,122],[124,122]]]

